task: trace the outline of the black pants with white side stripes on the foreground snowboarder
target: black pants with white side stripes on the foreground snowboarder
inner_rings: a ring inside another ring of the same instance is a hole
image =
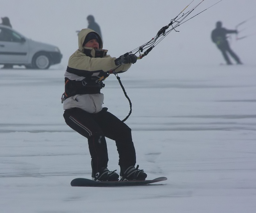
[[[135,165],[136,154],[131,129],[108,112],[107,108],[103,108],[99,113],[88,113],[80,108],[66,109],[63,116],[68,126],[88,138],[94,174],[102,167],[108,166],[105,137],[116,141],[120,167]]]

